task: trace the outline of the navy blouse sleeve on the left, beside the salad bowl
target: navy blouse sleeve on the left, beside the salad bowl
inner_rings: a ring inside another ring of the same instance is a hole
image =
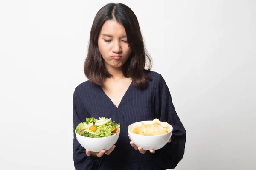
[[[84,105],[82,104],[81,99],[79,98],[79,95],[77,93],[77,90],[75,90],[73,95],[73,159],[76,170],[96,170],[99,166],[100,158],[87,156],[85,153],[85,149],[79,144],[76,139],[76,126],[80,122],[84,122],[87,117],[90,117],[90,115],[85,110]]]

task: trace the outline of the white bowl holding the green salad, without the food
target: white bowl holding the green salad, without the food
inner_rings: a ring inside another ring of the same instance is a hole
[[[89,149],[91,152],[99,152],[102,149],[109,150],[116,143],[119,134],[120,129],[116,134],[102,138],[89,138],[76,133],[76,139],[84,149]]]

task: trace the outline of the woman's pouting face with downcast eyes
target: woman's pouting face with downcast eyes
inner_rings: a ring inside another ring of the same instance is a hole
[[[107,20],[98,37],[99,51],[106,68],[120,68],[131,55],[125,28],[115,20]]]

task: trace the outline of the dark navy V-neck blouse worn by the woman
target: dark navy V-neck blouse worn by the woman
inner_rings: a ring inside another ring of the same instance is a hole
[[[99,85],[89,81],[76,87],[73,96],[74,130],[87,117],[111,118],[120,123],[120,136],[110,155],[101,158],[87,156],[74,133],[73,159],[76,170],[166,170],[173,169],[182,159],[185,150],[186,130],[172,104],[169,89],[163,77],[153,71],[146,73],[152,81],[140,90],[131,83],[118,107]],[[172,141],[154,154],[141,154],[128,138],[127,127],[138,121],[159,119],[173,127]]]

